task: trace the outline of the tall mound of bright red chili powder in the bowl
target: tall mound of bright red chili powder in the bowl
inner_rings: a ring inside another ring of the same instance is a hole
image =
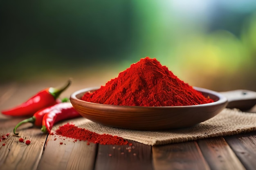
[[[189,106],[213,102],[180,80],[155,58],[142,58],[84,101],[122,106]]]

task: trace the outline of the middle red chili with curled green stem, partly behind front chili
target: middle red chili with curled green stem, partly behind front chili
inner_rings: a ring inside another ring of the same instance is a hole
[[[67,98],[62,99],[62,102],[67,102]],[[16,133],[16,129],[25,123],[32,123],[34,126],[42,126],[42,121],[43,121],[43,117],[46,113],[49,113],[51,110],[53,110],[55,108],[55,105],[53,106],[49,106],[43,109],[38,110],[32,117],[22,120],[20,121],[15,128],[13,129],[13,133],[14,135],[18,135],[18,133]]]

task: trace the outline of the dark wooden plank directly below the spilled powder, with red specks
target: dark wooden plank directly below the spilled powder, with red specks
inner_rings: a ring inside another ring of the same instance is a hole
[[[151,146],[99,145],[95,170],[152,170]]]

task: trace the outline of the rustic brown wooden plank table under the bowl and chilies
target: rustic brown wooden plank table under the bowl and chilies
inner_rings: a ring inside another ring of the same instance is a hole
[[[9,108],[43,89],[45,84],[5,84],[0,87],[0,109]],[[80,87],[73,86],[64,95]],[[256,113],[256,109],[252,111]],[[148,146],[135,141],[132,146],[112,146],[74,141],[43,134],[40,128],[24,124],[19,142],[13,128],[24,117],[0,115],[0,170],[255,170],[256,132],[213,137],[163,146]],[[78,122],[83,118],[73,119]],[[70,120],[69,120],[70,121]],[[65,121],[60,124],[65,124]],[[58,126],[59,124],[57,124]],[[63,144],[61,144],[61,142]],[[2,144],[5,144],[3,146]]]

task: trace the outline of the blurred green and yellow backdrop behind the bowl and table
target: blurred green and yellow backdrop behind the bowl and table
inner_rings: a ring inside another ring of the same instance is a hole
[[[149,56],[192,86],[256,91],[255,0],[0,3],[0,84],[104,85]]]

